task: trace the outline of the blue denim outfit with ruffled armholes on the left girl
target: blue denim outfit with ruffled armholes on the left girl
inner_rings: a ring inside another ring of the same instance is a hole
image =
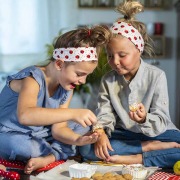
[[[0,157],[27,161],[33,157],[49,154],[54,154],[56,160],[73,156],[76,153],[75,147],[53,140],[51,126],[24,126],[19,123],[17,117],[19,94],[10,88],[10,82],[28,76],[32,76],[40,87],[38,107],[59,108],[71,94],[71,91],[59,86],[55,94],[49,97],[44,75],[36,66],[27,67],[17,74],[8,76],[6,85],[0,94]],[[84,133],[82,127],[76,123],[70,123],[69,126],[79,134]]]

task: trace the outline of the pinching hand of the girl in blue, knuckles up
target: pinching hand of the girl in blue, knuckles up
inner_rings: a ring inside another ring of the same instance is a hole
[[[91,126],[97,123],[95,114],[89,109],[74,109],[73,120],[83,127]]]

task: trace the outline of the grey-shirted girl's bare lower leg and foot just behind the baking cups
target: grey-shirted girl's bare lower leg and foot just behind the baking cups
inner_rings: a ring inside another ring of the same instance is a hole
[[[143,164],[142,154],[136,155],[113,155],[110,156],[108,162],[118,163],[118,164]]]

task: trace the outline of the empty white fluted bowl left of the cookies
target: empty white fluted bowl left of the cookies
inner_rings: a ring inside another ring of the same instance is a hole
[[[96,172],[97,166],[88,164],[73,164],[69,166],[69,175],[74,178],[90,178]]]

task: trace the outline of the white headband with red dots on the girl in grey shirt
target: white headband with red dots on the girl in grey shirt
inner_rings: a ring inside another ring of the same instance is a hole
[[[120,21],[115,22],[111,27],[111,31],[114,34],[119,34],[128,38],[139,49],[140,52],[143,52],[144,40],[139,31],[131,24]]]

